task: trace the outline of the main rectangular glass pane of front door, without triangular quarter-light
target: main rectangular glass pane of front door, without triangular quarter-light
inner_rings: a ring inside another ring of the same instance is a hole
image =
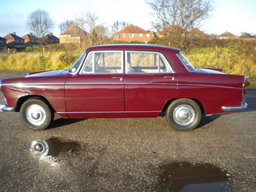
[[[94,73],[122,73],[120,52],[94,53]]]

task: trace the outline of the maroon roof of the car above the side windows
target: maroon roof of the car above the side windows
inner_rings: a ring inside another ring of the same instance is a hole
[[[104,51],[104,50],[134,50],[134,51],[172,51],[175,54],[179,53],[181,50],[177,48],[159,46],[159,45],[143,45],[143,44],[117,44],[117,45],[100,45],[92,46],[86,49],[86,52],[91,51]]]

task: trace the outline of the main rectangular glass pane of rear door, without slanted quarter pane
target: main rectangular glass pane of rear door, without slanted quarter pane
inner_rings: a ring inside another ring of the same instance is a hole
[[[127,52],[127,73],[158,73],[157,53]]]

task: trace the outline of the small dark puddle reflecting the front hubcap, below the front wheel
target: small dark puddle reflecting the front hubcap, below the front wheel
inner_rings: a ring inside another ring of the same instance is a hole
[[[29,143],[30,151],[41,153],[42,156],[57,156],[60,153],[77,150],[79,147],[80,144],[75,141],[65,140],[57,137],[40,141],[32,141]]]

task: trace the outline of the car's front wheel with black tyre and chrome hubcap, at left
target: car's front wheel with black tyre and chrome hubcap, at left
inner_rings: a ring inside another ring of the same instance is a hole
[[[19,111],[19,116],[26,127],[31,130],[45,130],[53,120],[54,113],[41,99],[26,100]]]

